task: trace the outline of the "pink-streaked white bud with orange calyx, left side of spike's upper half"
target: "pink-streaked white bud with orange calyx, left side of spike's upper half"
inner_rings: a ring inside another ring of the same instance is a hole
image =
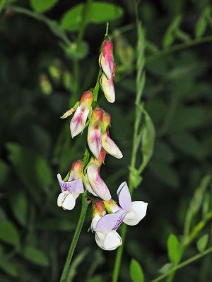
[[[86,125],[86,120],[90,111],[90,106],[93,102],[93,93],[86,91],[83,93],[78,107],[71,119],[70,130],[71,137],[75,137],[83,131]]]

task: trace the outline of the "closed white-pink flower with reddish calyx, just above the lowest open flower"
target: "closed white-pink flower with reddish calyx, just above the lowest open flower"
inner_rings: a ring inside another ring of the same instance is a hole
[[[100,197],[102,200],[110,200],[110,191],[100,176],[100,167],[105,160],[105,155],[105,150],[101,149],[98,159],[90,159],[83,181],[88,192]]]

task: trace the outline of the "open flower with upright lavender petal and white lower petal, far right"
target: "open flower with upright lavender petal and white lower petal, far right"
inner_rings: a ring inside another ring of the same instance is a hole
[[[142,201],[131,202],[131,195],[126,182],[123,182],[117,190],[117,196],[119,197],[119,204],[124,211],[126,216],[124,223],[127,225],[134,226],[146,216],[147,203]]]

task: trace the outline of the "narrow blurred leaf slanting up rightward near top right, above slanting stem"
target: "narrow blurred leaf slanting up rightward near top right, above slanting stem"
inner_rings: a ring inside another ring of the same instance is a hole
[[[165,35],[163,37],[163,47],[170,47],[170,45],[172,45],[172,43],[175,40],[175,32],[178,30],[181,22],[182,22],[182,16],[181,15],[175,16],[175,18],[172,20],[172,23],[167,28],[167,31],[165,32]]]

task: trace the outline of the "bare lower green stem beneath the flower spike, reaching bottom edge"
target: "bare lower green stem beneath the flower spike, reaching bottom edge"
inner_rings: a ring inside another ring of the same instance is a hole
[[[87,208],[88,208],[88,203],[87,203],[87,199],[86,199],[86,191],[83,193],[83,197],[82,197],[82,207],[81,207],[81,215],[78,219],[78,224],[76,226],[76,231],[73,234],[73,239],[71,241],[71,245],[69,247],[69,252],[68,255],[66,257],[66,262],[64,264],[64,269],[62,271],[61,274],[61,278],[60,278],[60,282],[66,282],[66,278],[68,275],[68,271],[69,271],[69,266],[71,264],[71,259],[73,257],[73,252],[75,250],[76,244],[78,242],[78,238],[79,235],[81,233],[81,229],[83,227],[83,222],[86,218],[86,212],[87,212]]]

